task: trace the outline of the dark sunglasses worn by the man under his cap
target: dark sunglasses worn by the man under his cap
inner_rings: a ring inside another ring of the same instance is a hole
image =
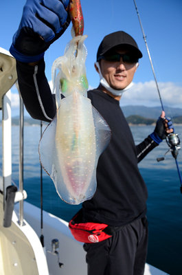
[[[126,64],[133,64],[138,62],[138,58],[132,54],[118,54],[117,52],[105,56],[100,56],[98,61],[100,61],[100,59],[104,59],[105,61],[118,62],[120,61],[121,57],[122,61]]]

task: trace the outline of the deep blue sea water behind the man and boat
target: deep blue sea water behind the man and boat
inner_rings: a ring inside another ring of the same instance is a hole
[[[44,130],[45,126],[43,126]],[[154,126],[130,126],[135,144],[152,133]],[[1,131],[1,129],[0,129]],[[182,140],[182,126],[175,132]],[[41,127],[24,126],[23,181],[27,201],[41,207],[41,166],[38,142]],[[50,141],[54,142],[54,141]],[[177,166],[164,140],[140,163],[139,170],[148,188],[149,244],[147,262],[171,275],[182,274],[182,194]],[[49,148],[47,148],[49,150]],[[165,155],[166,153],[166,155]],[[157,157],[165,157],[157,162]],[[177,157],[182,173],[182,149]],[[130,171],[128,170],[128,173]],[[12,126],[12,179],[19,185],[19,127]],[[133,179],[135,182],[135,179]],[[71,206],[58,197],[52,179],[43,170],[43,209],[69,221],[80,205]]]

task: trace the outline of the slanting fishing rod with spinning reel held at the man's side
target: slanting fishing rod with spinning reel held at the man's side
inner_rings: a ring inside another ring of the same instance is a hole
[[[146,44],[146,50],[148,52],[150,65],[152,67],[152,73],[153,73],[153,76],[155,78],[155,83],[156,83],[157,91],[158,91],[158,94],[159,94],[159,100],[161,102],[161,108],[164,111],[163,102],[162,102],[162,99],[161,99],[161,93],[160,93],[160,90],[159,90],[159,85],[157,83],[157,77],[156,77],[156,74],[155,74],[155,69],[154,69],[154,66],[153,66],[153,63],[152,63],[152,58],[150,56],[150,51],[149,51],[148,44],[147,44],[147,41],[146,41],[146,34],[144,33],[144,28],[141,24],[141,19],[139,17],[139,12],[138,12],[138,9],[137,9],[137,3],[136,3],[135,0],[133,0],[133,1],[134,1],[134,4],[135,4],[135,9],[136,9],[136,12],[137,12],[137,16],[138,16],[138,19],[139,19],[139,25],[141,27],[141,32],[143,34],[143,38],[144,38],[144,41],[145,41],[145,44]],[[178,172],[178,175],[179,175],[179,181],[181,183],[180,190],[181,190],[181,193],[182,193],[182,177],[181,177],[181,173],[180,173],[180,170],[179,170],[179,164],[178,164],[178,161],[177,161],[177,156],[179,154],[179,149],[181,148],[178,134],[177,133],[168,134],[167,137],[166,137],[166,142],[167,142],[168,146],[170,147],[169,150],[166,153],[168,153],[169,151],[172,153],[172,157],[174,157],[176,165],[177,165],[177,172]],[[166,153],[165,153],[165,155],[166,155]],[[164,160],[164,157],[158,157],[157,158],[157,162],[160,162],[161,160]]]

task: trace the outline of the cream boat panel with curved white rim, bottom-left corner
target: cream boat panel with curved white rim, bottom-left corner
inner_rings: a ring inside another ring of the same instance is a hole
[[[0,274],[48,275],[46,257],[32,227],[24,221],[19,226],[13,212],[12,225],[3,227],[3,196],[0,195]]]

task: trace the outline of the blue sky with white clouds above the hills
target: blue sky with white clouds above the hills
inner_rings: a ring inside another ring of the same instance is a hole
[[[159,82],[163,103],[182,108],[182,1],[181,0],[136,0],[141,22]],[[124,30],[135,38],[143,58],[135,74],[135,85],[122,96],[121,105],[144,104],[159,106],[159,96],[154,83],[152,69],[133,0],[82,0],[84,34],[88,35],[85,45],[88,50],[86,61],[87,78],[91,87],[97,87],[98,74],[94,62],[98,45],[110,32]],[[12,36],[16,32],[25,0],[2,1],[0,47],[9,50]],[[71,25],[45,54],[46,75],[51,80],[52,63],[64,54],[65,46],[71,40]],[[16,94],[16,90],[12,89]],[[14,95],[14,109],[17,97]]]

